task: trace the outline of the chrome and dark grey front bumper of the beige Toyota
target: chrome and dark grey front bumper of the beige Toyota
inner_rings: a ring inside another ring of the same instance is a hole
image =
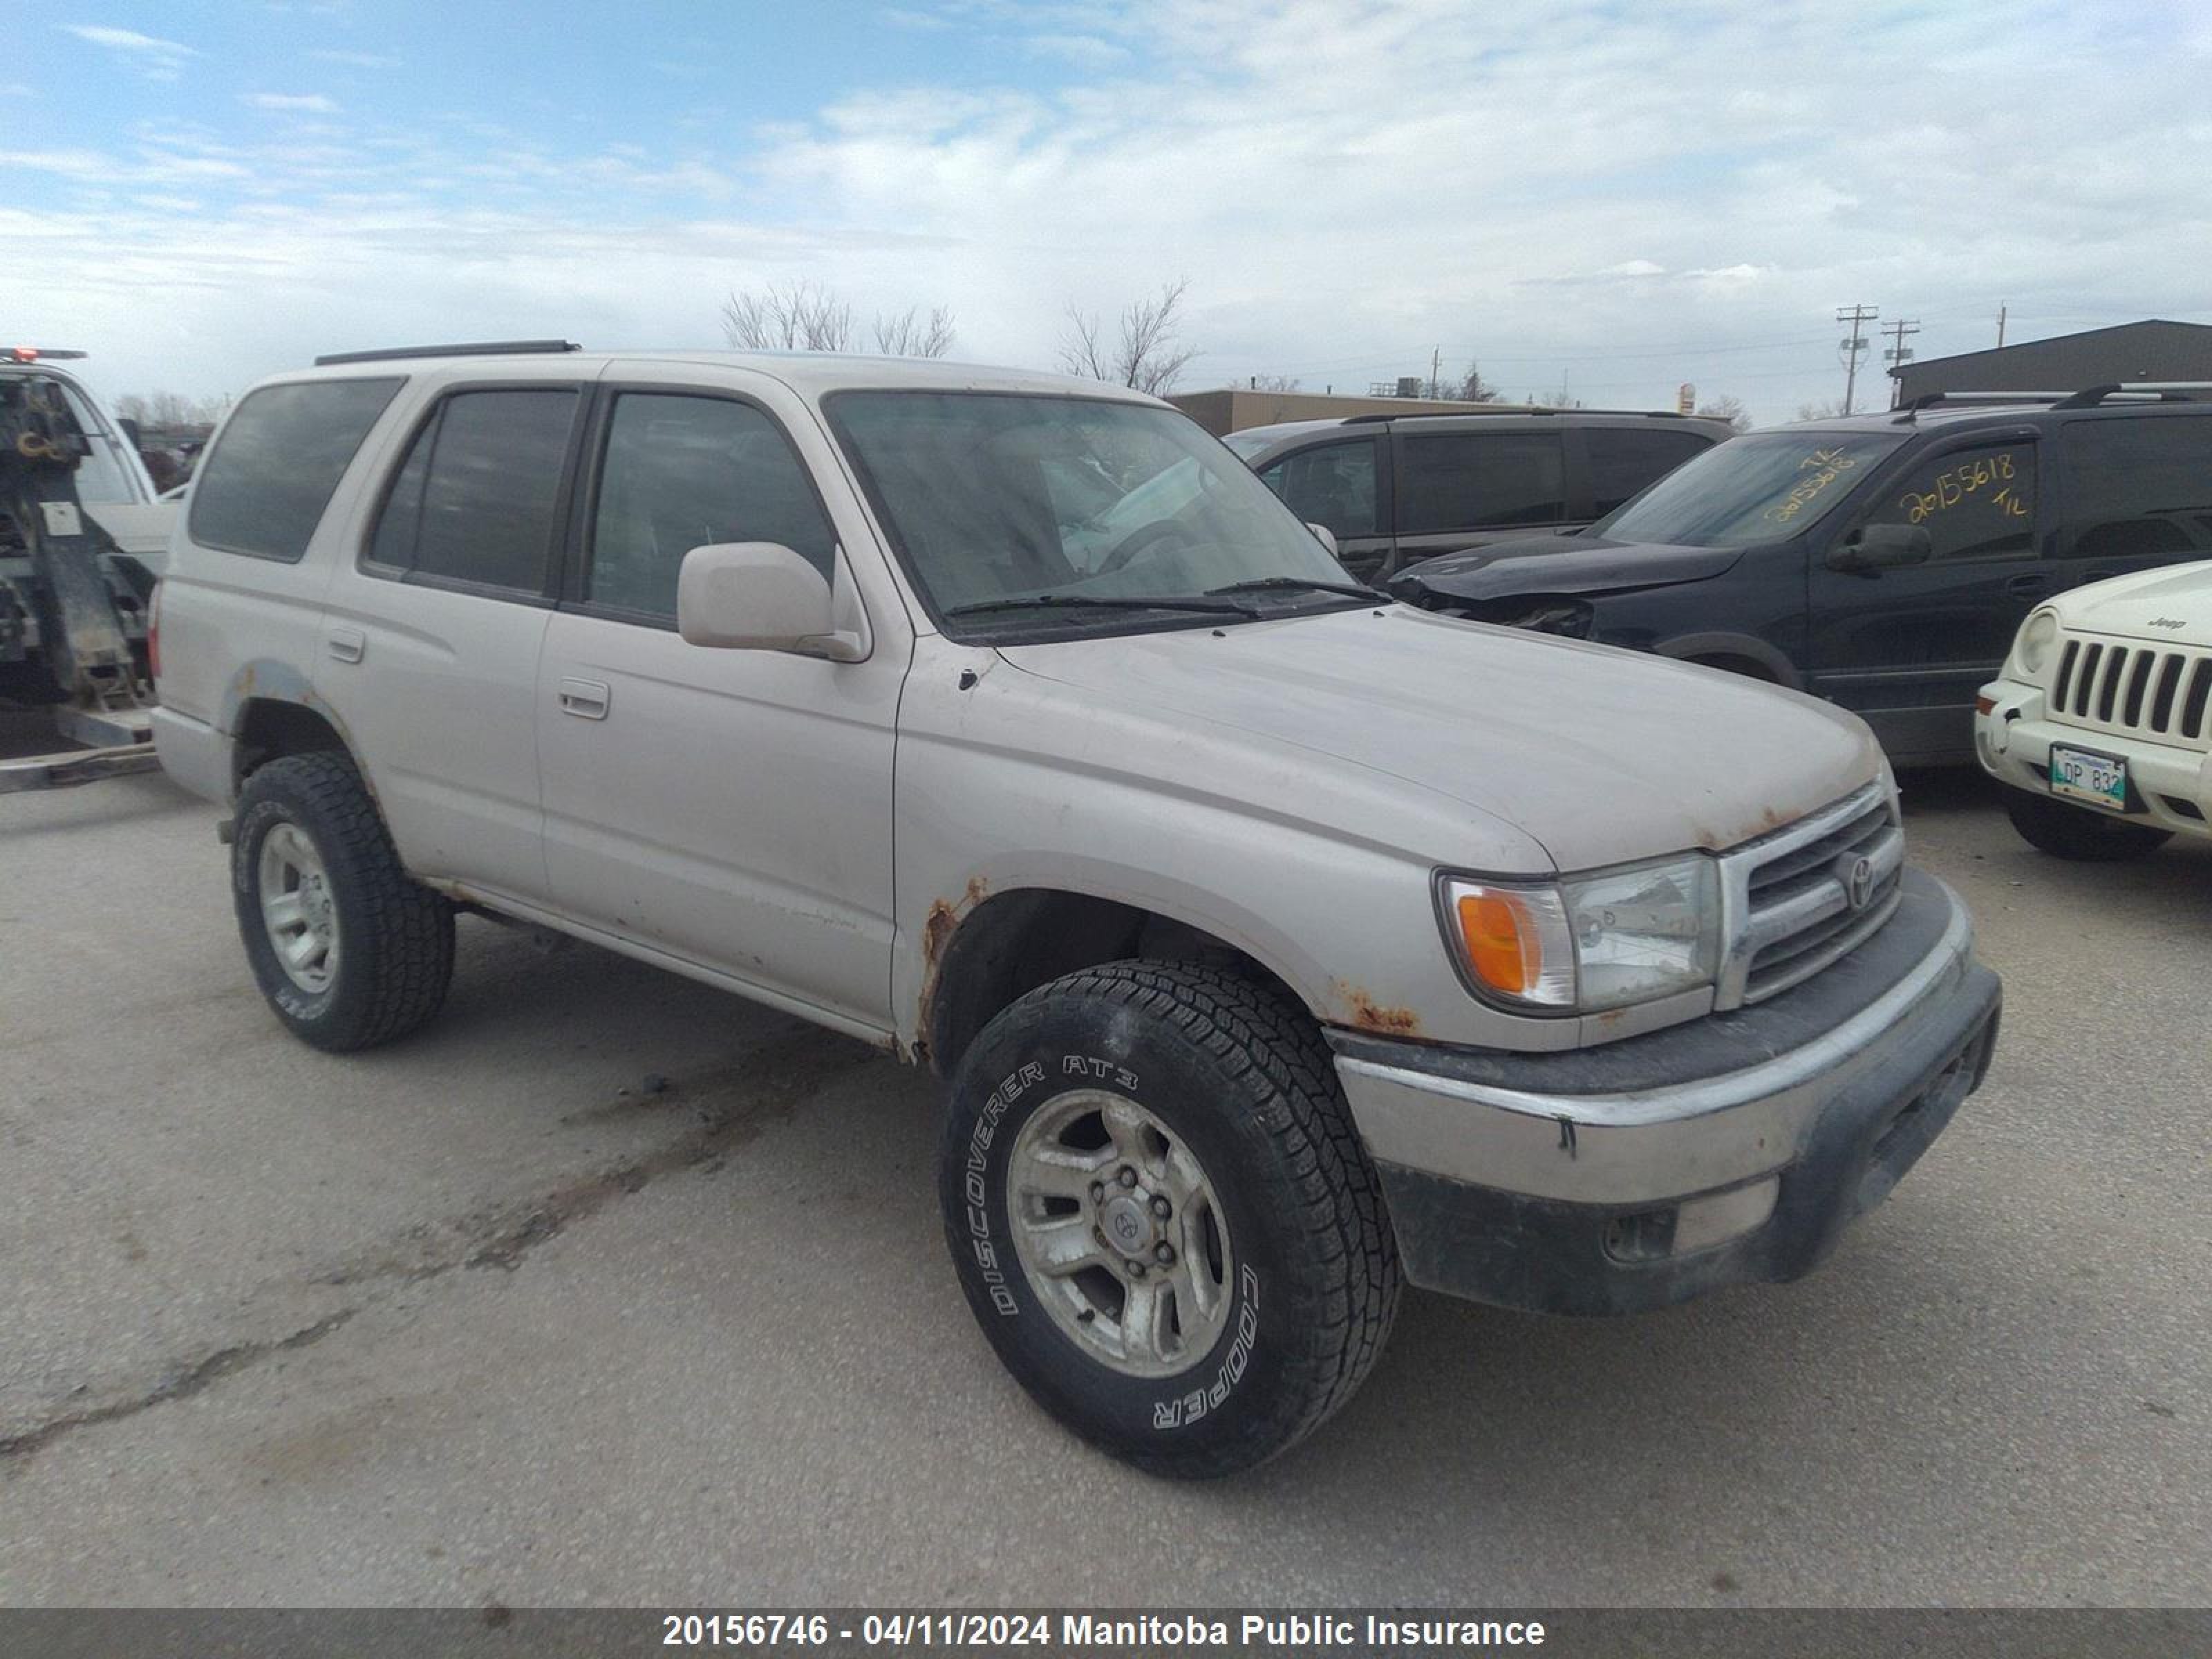
[[[1989,1071],[1997,975],[1933,876],[1805,984],[1564,1055],[1332,1033],[1407,1276],[1553,1314],[1809,1272]]]

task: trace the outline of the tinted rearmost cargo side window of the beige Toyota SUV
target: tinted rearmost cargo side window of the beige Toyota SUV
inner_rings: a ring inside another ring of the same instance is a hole
[[[376,416],[389,380],[301,380],[250,392],[192,482],[201,546],[296,562]]]

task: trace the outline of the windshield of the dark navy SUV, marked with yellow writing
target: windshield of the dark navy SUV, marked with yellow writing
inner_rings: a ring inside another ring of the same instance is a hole
[[[1588,533],[1668,546],[1750,546],[1818,524],[1902,431],[1765,431],[1683,462]]]

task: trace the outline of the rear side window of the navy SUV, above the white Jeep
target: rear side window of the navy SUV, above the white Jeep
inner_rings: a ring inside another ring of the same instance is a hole
[[[2212,549],[2212,418],[2073,420],[2064,445],[2068,557]]]

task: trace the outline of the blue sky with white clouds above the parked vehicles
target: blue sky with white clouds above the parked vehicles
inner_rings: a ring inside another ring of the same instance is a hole
[[[0,332],[113,396],[316,352],[719,345],[732,288],[1048,365],[1188,276],[1186,387],[1843,394],[2212,323],[2212,0],[0,0]],[[1885,345],[1887,341],[1876,341]],[[1887,398],[1885,392],[1876,392]]]

